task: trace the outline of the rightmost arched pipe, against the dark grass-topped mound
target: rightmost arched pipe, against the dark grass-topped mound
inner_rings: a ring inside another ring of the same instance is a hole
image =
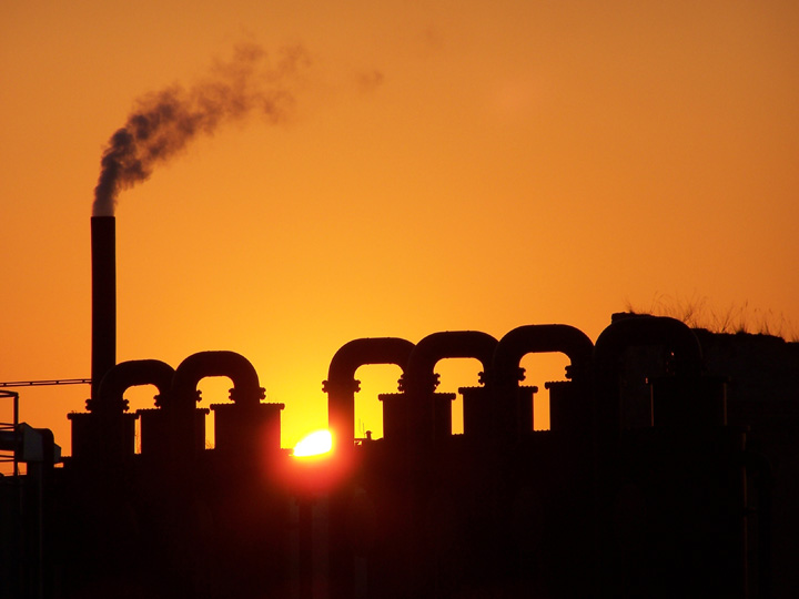
[[[701,374],[701,346],[685,323],[666,316],[636,316],[611,323],[594,347],[594,416],[598,432],[621,427],[619,362],[624,351],[636,345],[663,345],[672,352],[677,376]]]

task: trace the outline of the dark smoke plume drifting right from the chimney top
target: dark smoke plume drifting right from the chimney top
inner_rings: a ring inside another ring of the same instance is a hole
[[[93,215],[113,215],[120,191],[145,181],[155,165],[196,135],[211,135],[220,125],[255,112],[280,122],[293,105],[293,84],[307,65],[301,48],[283,50],[271,64],[260,47],[242,45],[230,62],[215,64],[192,88],[173,85],[140,98],[103,152]]]

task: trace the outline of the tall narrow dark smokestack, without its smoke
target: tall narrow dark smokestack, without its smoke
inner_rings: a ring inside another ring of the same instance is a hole
[[[117,364],[117,220],[91,217],[92,399],[102,377]],[[97,405],[97,402],[94,402]]]

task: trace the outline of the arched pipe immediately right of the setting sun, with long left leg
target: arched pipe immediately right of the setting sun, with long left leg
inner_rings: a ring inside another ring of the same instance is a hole
[[[396,364],[405,372],[414,344],[397,337],[353,339],[333,356],[323,390],[327,394],[327,426],[341,447],[355,440],[355,370],[366,364]]]

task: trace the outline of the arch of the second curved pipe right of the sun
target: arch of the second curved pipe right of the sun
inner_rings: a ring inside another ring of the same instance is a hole
[[[497,341],[479,331],[443,331],[427,335],[416,344],[403,379],[404,390],[433,393],[436,388],[435,365],[444,358],[476,358],[483,373],[492,370]]]

